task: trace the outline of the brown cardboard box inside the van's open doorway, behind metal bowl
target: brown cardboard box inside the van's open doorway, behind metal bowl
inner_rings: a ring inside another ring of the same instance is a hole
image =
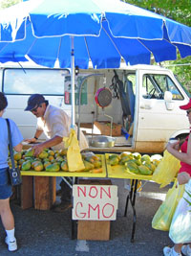
[[[111,136],[111,123],[110,122],[95,122],[94,129],[98,128],[100,130],[101,135]],[[118,125],[113,123],[112,127],[112,136],[120,136],[121,135],[122,125]]]

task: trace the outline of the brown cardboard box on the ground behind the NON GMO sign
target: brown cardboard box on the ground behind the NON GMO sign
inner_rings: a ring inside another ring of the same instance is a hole
[[[111,185],[110,179],[80,179],[79,184]],[[78,240],[110,240],[111,221],[77,221]]]

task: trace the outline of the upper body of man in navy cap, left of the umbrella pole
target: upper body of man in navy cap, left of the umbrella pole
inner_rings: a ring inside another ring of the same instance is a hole
[[[34,137],[26,141],[36,142],[43,132],[48,138],[47,141],[33,147],[35,155],[46,148],[53,148],[53,150],[64,148],[63,137],[69,136],[71,119],[63,109],[49,105],[41,94],[32,94],[25,111],[31,111],[37,118]]]

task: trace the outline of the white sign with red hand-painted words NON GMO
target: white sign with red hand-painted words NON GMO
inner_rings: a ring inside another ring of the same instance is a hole
[[[117,219],[117,186],[74,185],[73,220],[115,221]]]

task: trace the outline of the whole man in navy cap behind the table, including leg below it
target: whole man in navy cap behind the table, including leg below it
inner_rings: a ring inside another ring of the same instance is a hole
[[[25,141],[32,143],[36,142],[40,135],[44,132],[48,140],[33,146],[34,154],[38,155],[46,148],[53,150],[64,149],[63,137],[69,137],[71,119],[67,113],[56,106],[49,105],[41,94],[33,94],[29,100],[25,111],[31,111],[37,118],[37,127],[32,139]],[[88,148],[88,143],[82,131],[79,133],[79,147],[80,149]],[[55,205],[53,210],[55,212],[62,212],[72,206],[71,204],[71,189],[62,180],[60,183],[61,203]]]

